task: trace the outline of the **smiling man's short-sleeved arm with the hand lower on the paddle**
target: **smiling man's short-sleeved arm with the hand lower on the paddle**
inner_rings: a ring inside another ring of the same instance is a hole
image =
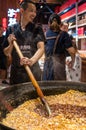
[[[34,42],[34,45],[36,45],[37,51],[35,52],[35,54],[30,59],[27,58],[27,57],[22,58],[20,60],[21,65],[27,64],[29,66],[32,66],[43,55],[45,36],[44,36],[44,33],[43,33],[43,30],[42,30],[41,26],[36,26],[36,28],[34,29],[33,42]]]

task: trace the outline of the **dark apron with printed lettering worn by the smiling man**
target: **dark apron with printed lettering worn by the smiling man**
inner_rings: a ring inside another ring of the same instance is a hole
[[[20,25],[14,30],[15,37],[19,48],[24,55],[24,57],[31,58],[37,51],[37,45],[34,43],[33,31],[35,26],[28,24],[25,31],[21,30]],[[33,38],[33,39],[32,39]],[[11,75],[10,83],[18,84],[31,81],[24,66],[20,65],[20,59],[15,49],[12,51],[12,65],[11,65]],[[30,67],[36,80],[41,80],[41,70],[38,62]]]

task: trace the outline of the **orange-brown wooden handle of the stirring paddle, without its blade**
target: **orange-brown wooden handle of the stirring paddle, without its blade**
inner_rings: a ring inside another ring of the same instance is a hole
[[[13,45],[14,45],[14,47],[15,47],[15,49],[16,49],[16,51],[17,51],[19,57],[20,57],[20,59],[23,58],[23,54],[21,53],[21,51],[20,51],[20,49],[19,49],[19,46],[18,46],[18,44],[17,44],[16,41],[13,41]],[[37,90],[38,95],[39,95],[41,98],[43,98],[44,95],[43,95],[43,93],[42,93],[42,91],[41,91],[41,89],[40,89],[40,87],[39,87],[37,81],[35,80],[35,78],[34,78],[32,72],[31,72],[29,66],[28,66],[28,65],[24,65],[24,67],[25,67],[25,69],[26,69],[26,71],[27,71],[27,74],[28,74],[28,76],[30,77],[30,79],[31,79],[31,81],[32,81],[32,83],[33,83],[35,89]]]

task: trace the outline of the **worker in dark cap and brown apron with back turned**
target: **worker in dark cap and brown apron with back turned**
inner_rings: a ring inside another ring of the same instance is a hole
[[[67,32],[61,31],[61,19],[60,16],[53,13],[49,18],[49,29],[46,32],[46,44],[45,44],[45,63],[44,63],[44,73],[43,80],[66,80],[66,71],[65,71],[65,53],[68,52],[71,55],[72,62],[69,63],[72,67],[75,61],[75,49],[72,46],[71,39]],[[58,60],[56,75],[54,75],[54,68],[51,56],[53,55],[54,44],[56,37],[59,36],[55,55]]]

